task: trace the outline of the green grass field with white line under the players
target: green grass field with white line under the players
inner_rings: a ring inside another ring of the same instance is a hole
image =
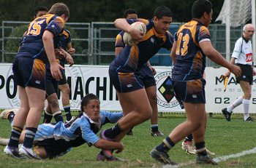
[[[75,115],[75,113],[73,113]],[[252,123],[244,122],[241,115],[233,115],[232,121],[227,122],[222,115],[215,115],[208,119],[206,131],[206,145],[210,151],[216,153],[213,158],[224,159],[223,156],[241,153],[256,147],[256,121]],[[255,119],[255,116],[252,116]],[[163,114],[159,118],[159,128],[166,135],[177,124],[185,120],[184,114]],[[105,125],[110,127],[111,124]],[[0,137],[10,136],[10,124],[7,120],[0,120]],[[133,129],[133,136],[124,137],[124,151],[116,156],[125,159],[124,162],[96,161],[99,149],[89,148],[82,145],[73,148],[67,155],[59,159],[52,160],[23,160],[13,159],[3,152],[4,146],[0,146],[0,167],[170,167],[154,161],[149,156],[149,151],[162,142],[164,137],[150,136],[150,121],[146,121]],[[256,148],[255,148],[256,149]],[[244,156],[238,156],[226,161],[219,161],[218,166],[195,164],[195,156],[188,155],[181,149],[181,142],[169,152],[173,161],[184,166],[179,167],[256,167],[256,151]]]

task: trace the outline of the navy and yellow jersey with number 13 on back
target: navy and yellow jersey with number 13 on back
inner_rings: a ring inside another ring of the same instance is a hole
[[[208,28],[197,20],[191,20],[175,34],[176,63],[173,67],[174,81],[202,79],[206,68],[206,55],[200,49],[200,41],[211,41]]]

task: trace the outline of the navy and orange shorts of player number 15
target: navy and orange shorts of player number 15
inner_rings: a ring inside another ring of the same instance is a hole
[[[45,90],[45,63],[31,57],[15,57],[12,63],[14,81],[20,87]]]

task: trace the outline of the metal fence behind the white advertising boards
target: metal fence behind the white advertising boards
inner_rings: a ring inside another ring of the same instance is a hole
[[[21,36],[29,22],[2,21],[1,23],[1,63],[11,63],[15,57]],[[181,23],[172,23],[169,31],[175,33]],[[116,35],[120,32],[113,23],[67,23],[71,33],[72,45],[76,52],[73,55],[76,64],[108,65],[115,57],[114,46]],[[213,46],[225,55],[225,25],[212,24],[209,26]],[[236,40],[241,36],[242,26],[231,28],[230,49],[233,50]],[[231,51],[232,52],[232,51]],[[170,52],[160,49],[157,55],[151,58],[152,65],[171,65]],[[206,65],[217,67],[207,58]]]

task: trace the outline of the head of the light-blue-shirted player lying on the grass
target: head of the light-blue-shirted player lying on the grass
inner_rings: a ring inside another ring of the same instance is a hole
[[[99,119],[99,105],[99,98],[96,95],[89,93],[83,97],[81,101],[81,111],[86,113],[91,120],[97,121]]]

